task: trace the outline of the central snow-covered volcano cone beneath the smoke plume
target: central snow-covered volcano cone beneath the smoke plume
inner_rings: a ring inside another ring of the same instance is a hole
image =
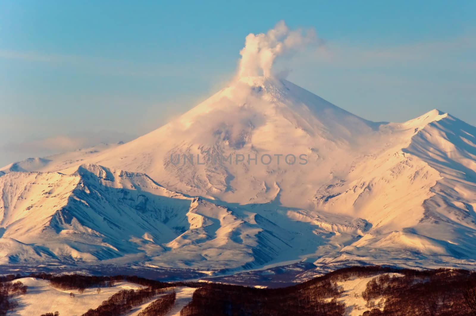
[[[91,162],[143,172],[190,195],[248,204],[279,193],[284,205],[308,208],[314,202],[302,198],[345,177],[353,160],[369,154],[380,137],[378,125],[289,81],[245,77]]]

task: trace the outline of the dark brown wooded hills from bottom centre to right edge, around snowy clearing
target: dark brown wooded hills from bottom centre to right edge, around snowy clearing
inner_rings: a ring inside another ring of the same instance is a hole
[[[390,277],[391,272],[404,276]],[[202,285],[181,315],[345,315],[345,307],[334,300],[341,294],[335,282],[374,275],[362,297],[369,308],[375,302],[380,308],[363,316],[476,316],[475,272],[378,266],[344,268],[280,289]]]

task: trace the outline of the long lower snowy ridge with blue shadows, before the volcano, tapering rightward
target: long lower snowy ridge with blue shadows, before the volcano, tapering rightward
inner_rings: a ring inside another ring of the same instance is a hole
[[[0,191],[1,264],[109,260],[249,268],[290,255],[298,259],[327,239],[335,249],[360,231],[329,235],[310,227],[306,221],[312,217],[288,223],[288,209],[216,205],[163,188],[144,174],[97,165],[82,165],[71,175],[11,172],[0,177]],[[347,221],[343,225],[365,229],[363,220],[332,220]]]

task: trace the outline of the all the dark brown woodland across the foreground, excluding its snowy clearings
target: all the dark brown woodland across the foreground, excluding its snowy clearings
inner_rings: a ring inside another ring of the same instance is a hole
[[[387,273],[391,272],[403,276],[390,277]],[[265,289],[203,282],[167,283],[135,276],[8,275],[0,277],[0,308],[3,313],[0,315],[15,307],[12,296],[26,291],[26,286],[14,280],[36,277],[49,280],[52,286],[61,289],[112,286],[122,280],[143,286],[136,291],[122,290],[114,294],[84,316],[121,315],[154,296],[166,294],[141,313],[141,316],[162,315],[175,302],[175,293],[167,294],[174,286],[198,288],[192,301],[180,312],[182,316],[341,316],[345,314],[345,306],[338,302],[342,288],[337,286],[337,282],[373,276],[362,292],[367,308],[371,309],[363,316],[476,316],[476,272],[378,266],[343,268],[295,286]]]

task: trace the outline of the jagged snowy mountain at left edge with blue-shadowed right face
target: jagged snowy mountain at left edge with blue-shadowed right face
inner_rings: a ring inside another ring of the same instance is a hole
[[[73,175],[12,172],[1,177],[0,187],[2,237],[40,247],[61,260],[118,257],[176,237],[185,224],[174,218],[190,204],[148,177],[90,165]],[[166,218],[173,225],[164,225]]]

